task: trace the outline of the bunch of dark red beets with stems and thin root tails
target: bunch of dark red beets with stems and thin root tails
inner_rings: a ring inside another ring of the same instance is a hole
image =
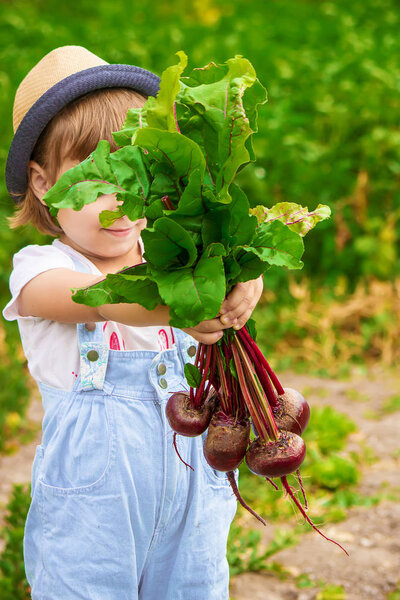
[[[249,329],[228,330],[216,344],[200,343],[195,367],[201,373],[199,386],[174,393],[166,407],[180,460],[192,468],[179,455],[176,435],[195,437],[207,430],[204,456],[213,469],[226,472],[246,510],[266,524],[239,493],[234,469],[244,458],[250,471],[265,477],[276,489],[273,479],[280,478],[283,489],[312,528],[346,552],[306,513],[308,504],[299,467],[306,455],[301,435],[308,425],[310,407],[299,392],[282,387]],[[251,424],[256,437],[250,442]],[[297,475],[304,503],[287,480],[291,473]]]

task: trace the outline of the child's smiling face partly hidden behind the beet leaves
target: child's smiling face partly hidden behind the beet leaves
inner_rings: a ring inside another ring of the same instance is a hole
[[[64,160],[58,177],[76,164],[79,161]],[[99,220],[103,210],[115,210],[121,204],[122,201],[116,200],[116,194],[107,194],[99,196],[95,202],[86,204],[79,211],[61,208],[57,215],[63,230],[60,240],[88,258],[125,259],[137,254],[138,239],[146,225],[146,219],[130,221],[124,216],[107,229],[101,226]]]

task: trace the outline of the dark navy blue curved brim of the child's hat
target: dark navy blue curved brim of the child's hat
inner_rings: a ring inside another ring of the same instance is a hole
[[[100,65],[74,73],[48,89],[22,119],[6,163],[6,186],[15,202],[21,201],[28,185],[28,162],[35,144],[51,119],[72,100],[101,88],[123,87],[146,96],[156,96],[160,78],[133,65]]]

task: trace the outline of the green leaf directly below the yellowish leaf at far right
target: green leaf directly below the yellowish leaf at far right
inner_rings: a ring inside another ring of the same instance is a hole
[[[302,238],[280,221],[263,223],[258,227],[251,246],[241,247],[270,265],[301,269],[304,244]]]

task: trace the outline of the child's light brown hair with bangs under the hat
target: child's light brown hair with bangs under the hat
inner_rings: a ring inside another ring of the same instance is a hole
[[[118,146],[111,132],[118,131],[124,123],[129,108],[140,108],[147,98],[135,90],[104,88],[95,90],[67,104],[48,123],[40,134],[31,160],[47,173],[51,185],[57,180],[62,162],[69,158],[82,161],[96,148],[99,140],[108,140],[110,150]],[[56,237],[62,233],[44,206],[35,196],[28,169],[28,187],[12,217],[11,229],[32,224],[40,233]]]

